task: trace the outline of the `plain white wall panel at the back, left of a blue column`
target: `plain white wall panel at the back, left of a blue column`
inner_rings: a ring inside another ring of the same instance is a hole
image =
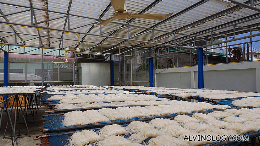
[[[110,63],[80,63],[82,85],[110,85]]]

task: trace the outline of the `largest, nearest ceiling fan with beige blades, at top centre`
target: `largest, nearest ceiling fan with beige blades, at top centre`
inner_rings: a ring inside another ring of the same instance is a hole
[[[163,15],[163,14],[132,14],[131,12],[128,12],[126,10],[126,7],[124,5],[124,0],[110,0],[110,1],[111,1],[113,8],[117,12],[115,12],[113,14],[113,17],[106,19],[98,24],[93,24],[94,26],[96,26],[96,25],[106,26],[107,24],[109,24],[110,22],[112,22],[115,19],[126,20],[129,18],[143,18],[143,19],[163,20],[173,14],[173,13],[169,13],[169,14],[165,14],[165,15]]]

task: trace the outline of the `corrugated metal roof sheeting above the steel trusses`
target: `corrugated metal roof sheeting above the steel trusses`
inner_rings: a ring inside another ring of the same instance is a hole
[[[237,1],[245,2],[244,0],[237,0]],[[105,10],[105,8],[108,6],[109,2],[110,1],[108,1],[108,0],[73,0],[71,7],[69,9],[69,14],[71,14],[69,17],[70,29],[95,22],[99,18],[99,16],[102,14],[102,12]],[[126,0],[125,5],[129,12],[140,13],[142,10],[144,10],[148,5],[150,5],[153,2],[154,2],[153,0],[143,0],[143,1]],[[144,14],[168,14],[171,12],[173,12],[173,14],[176,14],[176,13],[180,12],[181,10],[183,10],[197,2],[199,2],[199,0],[178,0],[178,1],[177,0],[162,0],[158,4],[153,6],[152,8],[148,9]],[[17,4],[17,5],[21,5],[21,6],[30,7],[30,3],[28,0],[5,0],[4,3]],[[67,13],[68,6],[69,6],[69,0],[32,0],[32,3],[33,3],[34,8],[48,9],[49,11],[63,13],[63,14],[59,14],[59,13],[53,13],[53,12],[47,12],[47,11],[35,9],[34,11],[35,11],[35,16],[36,16],[37,22],[62,17],[62,16],[64,16],[64,14]],[[232,4],[232,6],[235,6],[235,5]],[[255,6],[255,7],[260,8],[260,6]],[[11,14],[11,13],[15,13],[18,11],[26,10],[28,8],[0,4],[0,9],[3,11],[4,14]],[[225,9],[227,9],[227,8],[224,6],[221,6],[219,4],[211,3],[211,1],[209,1],[209,2],[203,3],[202,5],[200,5],[196,8],[189,10],[188,12],[186,12],[184,14],[181,14],[180,16],[177,16],[165,23],[158,25],[155,29],[165,30],[165,31],[174,31],[187,24],[191,24],[200,19],[206,18],[206,17],[216,14],[218,12],[221,12]],[[104,14],[104,16],[102,17],[102,20],[112,17],[114,12],[115,12],[115,10],[113,9],[113,7],[109,8],[109,10],[106,12],[106,14]],[[194,26],[190,26],[183,30],[179,30],[178,32],[190,35],[190,34],[202,31],[202,30],[212,28],[214,26],[218,26],[220,24],[224,24],[224,23],[227,23],[227,22],[230,22],[233,20],[237,20],[237,19],[249,16],[252,14],[256,14],[256,13],[258,13],[258,12],[250,10],[248,8],[237,9],[236,11],[232,11],[231,13],[226,13],[224,15],[209,19],[207,21],[201,22],[200,24],[196,24]],[[77,16],[73,16],[73,15],[79,15],[82,17],[77,17]],[[90,17],[90,18],[94,18],[94,19],[88,19],[88,18],[84,18],[84,17]],[[14,15],[9,15],[9,16],[6,16],[6,18],[10,22],[13,22],[13,23],[27,24],[27,25],[31,24],[31,12],[30,11],[19,13],[19,14],[14,14]],[[0,21],[5,21],[5,19],[3,17],[1,17]],[[114,20],[112,23],[108,24],[107,26],[102,26],[102,33],[117,29],[120,26],[122,26],[122,24],[118,24],[118,23],[126,23],[127,21],[128,20]],[[151,27],[152,25],[157,24],[161,21],[162,20],[134,19],[130,24],[137,25],[137,26],[143,26],[143,27]],[[260,22],[260,19],[255,19],[252,21],[247,21],[247,22],[241,23],[239,25],[246,26],[246,25],[256,24],[259,22]],[[54,28],[54,29],[63,29],[64,23],[65,23],[65,17],[56,19],[56,20],[52,20],[52,21],[48,21],[48,22],[44,22],[44,23],[40,23],[40,24],[38,24],[38,26],[50,27],[50,28]],[[90,30],[91,27],[92,27],[92,24],[77,28],[73,31],[86,33],[88,30]],[[20,35],[20,36],[24,41],[32,39],[30,41],[25,41],[26,45],[39,46],[39,39],[33,39],[33,38],[37,37],[37,35],[38,35],[38,32],[35,28],[28,28],[28,27],[21,27],[21,26],[14,26],[14,28],[18,33],[36,35],[36,36],[29,36],[29,35]],[[222,32],[222,31],[232,30],[232,29],[233,29],[232,27],[227,27],[227,28],[220,29],[216,32]],[[14,32],[14,30],[12,30],[11,27],[6,24],[0,24],[0,30],[4,30],[7,32]],[[65,24],[65,30],[68,30],[68,21]],[[143,30],[145,30],[145,29],[130,26],[129,35],[131,37],[133,35],[140,33]],[[41,41],[43,42],[43,44],[49,43],[49,45],[44,45],[44,46],[50,46],[53,48],[58,48],[60,46],[59,39],[61,39],[62,32],[43,30],[43,29],[39,29],[39,32],[40,32],[41,36],[55,37],[55,38],[41,37],[41,39],[42,39]],[[99,35],[100,26],[95,26],[91,30],[90,33]],[[109,33],[106,33],[105,35],[109,35],[111,33],[112,32],[109,32]],[[154,37],[163,35],[165,33],[166,32],[161,32],[161,31],[155,30]],[[8,34],[6,32],[0,32],[1,37],[7,36],[7,35],[10,35],[10,34]],[[204,35],[210,35],[210,32],[206,33]],[[83,36],[84,35],[81,34],[79,40],[82,40]],[[117,33],[115,33],[113,35],[113,37],[127,38],[128,37],[127,27],[119,30]],[[183,37],[183,35],[176,34],[176,39],[180,38],[180,37]],[[14,38],[15,38],[14,36],[10,36],[10,37],[6,37],[4,39],[10,44],[15,44]],[[63,47],[67,47],[67,46],[71,46],[71,45],[74,45],[74,47],[76,46],[77,37],[75,34],[64,33],[63,38],[69,39],[69,40],[63,41]],[[85,37],[85,39],[83,40],[83,41],[85,41],[84,49],[97,45],[96,43],[102,41],[103,39],[104,39],[104,37],[87,35]],[[152,32],[148,32],[146,34],[139,35],[137,37],[134,37],[133,39],[141,40],[141,41],[148,41],[148,40],[152,39]],[[174,39],[174,37],[170,36],[163,40],[157,41],[157,43],[164,43],[167,41],[171,41],[173,39]],[[56,42],[54,42],[54,41],[56,41]],[[122,39],[109,38],[109,39],[105,40],[103,43],[119,44],[122,41],[123,41]],[[18,37],[17,37],[17,42],[20,42]],[[136,41],[126,41],[126,42],[122,43],[121,45],[135,46],[139,43],[140,42],[136,42]],[[155,44],[145,44],[142,46],[152,47],[154,45]],[[106,50],[112,46],[113,45],[105,45],[105,44],[102,45],[103,50]],[[82,47],[82,45],[80,47]],[[94,51],[100,51],[100,49],[101,49],[101,46],[98,46],[94,49]]]

